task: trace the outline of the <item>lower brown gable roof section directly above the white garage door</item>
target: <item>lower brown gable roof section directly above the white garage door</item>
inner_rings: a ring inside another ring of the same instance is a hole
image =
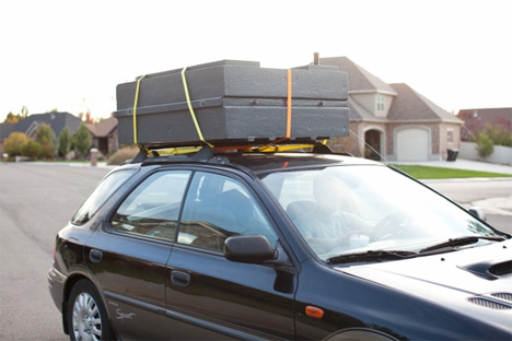
[[[394,121],[450,121],[463,124],[461,119],[416,92],[405,83],[391,84],[398,94],[387,113],[387,119]]]

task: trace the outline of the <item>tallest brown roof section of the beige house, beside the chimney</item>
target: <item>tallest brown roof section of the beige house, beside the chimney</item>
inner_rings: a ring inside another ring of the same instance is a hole
[[[380,78],[373,75],[347,57],[321,58],[321,64],[336,66],[348,73],[349,93],[379,92],[396,96],[396,91]]]

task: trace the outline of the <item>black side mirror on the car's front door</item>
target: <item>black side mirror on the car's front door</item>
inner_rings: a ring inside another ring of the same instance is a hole
[[[243,235],[225,239],[224,256],[231,261],[260,264],[276,259],[276,251],[266,237]]]

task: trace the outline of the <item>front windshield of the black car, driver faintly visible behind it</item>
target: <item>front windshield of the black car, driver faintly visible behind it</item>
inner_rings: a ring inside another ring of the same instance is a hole
[[[497,235],[434,191],[381,165],[283,170],[261,178],[323,260],[368,251],[418,252],[451,238]]]

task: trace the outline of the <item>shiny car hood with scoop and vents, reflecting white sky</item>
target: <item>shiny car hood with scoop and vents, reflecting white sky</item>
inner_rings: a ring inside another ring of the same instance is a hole
[[[504,330],[511,328],[512,239],[453,252],[336,269],[484,319]]]

